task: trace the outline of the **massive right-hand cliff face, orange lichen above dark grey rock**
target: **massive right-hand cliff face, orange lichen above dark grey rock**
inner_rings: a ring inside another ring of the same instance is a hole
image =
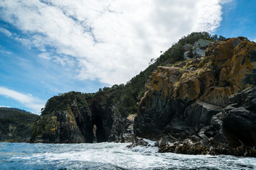
[[[160,139],[170,152],[184,140],[256,147],[255,80],[256,44],[242,37],[209,44],[203,57],[158,67],[139,103],[135,135]]]

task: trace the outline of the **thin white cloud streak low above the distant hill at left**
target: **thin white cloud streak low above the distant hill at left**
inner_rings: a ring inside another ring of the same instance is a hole
[[[41,113],[41,108],[44,107],[43,101],[32,96],[31,94],[21,94],[18,91],[7,89],[3,86],[0,86],[0,95],[13,98],[27,108],[31,109],[31,111],[34,113]]]

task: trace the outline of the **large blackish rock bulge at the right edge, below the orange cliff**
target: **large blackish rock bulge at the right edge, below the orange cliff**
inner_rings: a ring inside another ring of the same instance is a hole
[[[230,96],[223,113],[223,133],[233,147],[256,146],[256,88]]]

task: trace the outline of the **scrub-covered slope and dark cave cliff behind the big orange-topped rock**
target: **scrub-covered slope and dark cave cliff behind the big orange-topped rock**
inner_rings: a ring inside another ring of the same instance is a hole
[[[105,87],[95,94],[70,92],[53,96],[46,103],[40,120],[33,126],[31,142],[93,142],[95,137],[98,142],[131,142],[137,103],[144,95],[151,72],[159,64],[181,60],[183,50],[186,50],[188,58],[193,54],[201,56],[209,41],[201,40],[195,47],[182,47],[200,38],[210,39],[210,35],[205,32],[191,33],[181,38],[125,85]],[[93,128],[95,124],[96,132]]]

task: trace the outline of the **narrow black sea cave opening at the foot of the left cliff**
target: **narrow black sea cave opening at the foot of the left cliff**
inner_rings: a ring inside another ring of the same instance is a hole
[[[105,130],[102,123],[102,117],[100,115],[95,115],[92,118],[92,132],[94,131],[97,139],[94,139],[94,142],[107,142],[107,137],[105,135]]]

